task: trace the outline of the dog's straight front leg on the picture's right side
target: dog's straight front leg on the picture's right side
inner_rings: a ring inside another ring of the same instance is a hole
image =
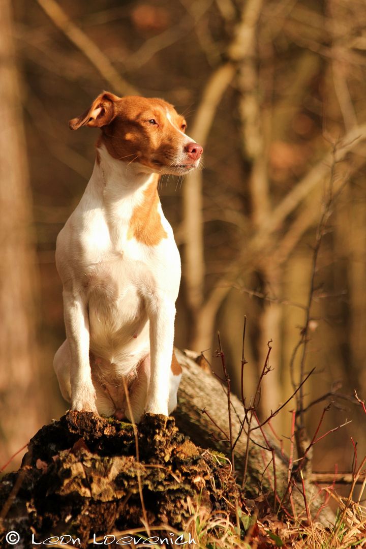
[[[173,302],[151,299],[148,311],[151,373],[145,412],[168,415],[175,315],[176,307]]]

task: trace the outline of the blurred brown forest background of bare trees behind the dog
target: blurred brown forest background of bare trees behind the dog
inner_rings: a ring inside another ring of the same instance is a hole
[[[103,89],[166,99],[204,147],[203,171],[160,183],[183,267],[176,345],[219,372],[219,329],[240,395],[246,316],[247,402],[272,340],[261,415],[316,366],[309,435],[330,400],[321,432],[352,423],[314,447],[314,468],[350,469],[351,436],[364,455],[365,29],[362,0],[0,0],[0,466],[67,408],[55,240],[98,135],[67,122]],[[294,407],[273,422],[284,440]]]

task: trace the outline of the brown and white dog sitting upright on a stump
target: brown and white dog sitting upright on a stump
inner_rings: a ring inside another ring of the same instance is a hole
[[[57,238],[61,393],[71,410],[168,416],[182,376],[173,352],[181,260],[157,183],[197,167],[202,147],[162,99],[104,92],[69,126],[101,131],[91,179]]]

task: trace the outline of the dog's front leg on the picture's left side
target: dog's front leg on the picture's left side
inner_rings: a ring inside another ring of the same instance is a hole
[[[89,362],[88,307],[81,296],[71,292],[63,295],[66,337],[71,355],[71,410],[98,413]]]

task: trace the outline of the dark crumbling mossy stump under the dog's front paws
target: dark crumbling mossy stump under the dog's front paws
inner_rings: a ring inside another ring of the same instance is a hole
[[[20,535],[16,547],[28,549],[32,535],[38,541],[69,535],[88,547],[93,534],[140,528],[139,478],[152,530],[187,528],[190,502],[199,501],[207,513],[235,513],[240,493],[228,462],[195,446],[172,417],[145,414],[137,428],[139,461],[131,424],[73,411],[38,431],[22,469],[0,483],[0,509],[12,503],[0,546],[10,530]]]

